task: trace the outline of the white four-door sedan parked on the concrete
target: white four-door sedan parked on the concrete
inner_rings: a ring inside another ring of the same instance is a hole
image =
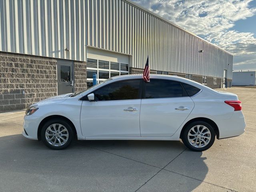
[[[204,151],[245,128],[235,94],[185,78],[142,75],[110,78],[76,94],[32,104],[24,116],[26,138],[64,149],[78,140],[180,140]]]

